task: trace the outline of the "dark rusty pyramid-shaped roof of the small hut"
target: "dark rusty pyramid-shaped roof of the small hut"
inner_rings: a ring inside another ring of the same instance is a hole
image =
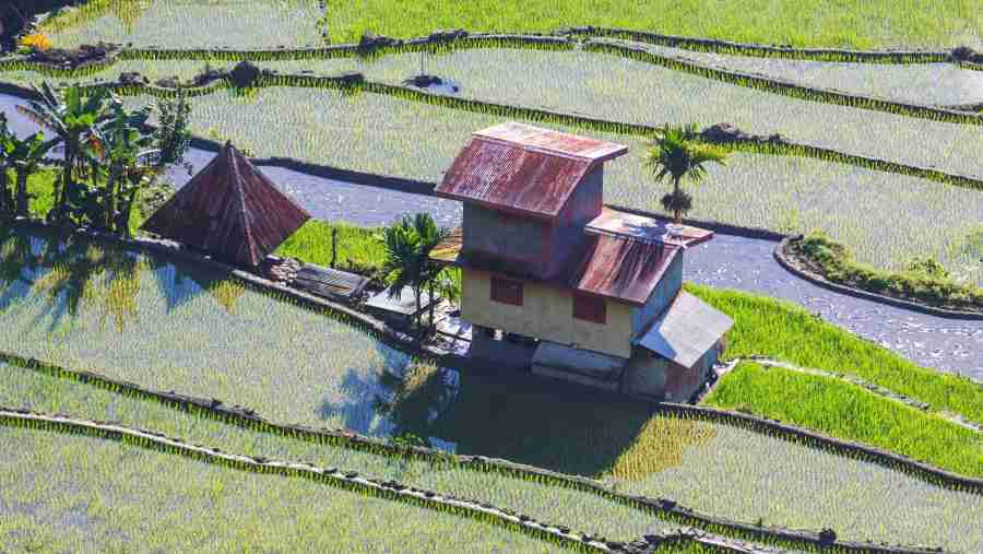
[[[230,143],[140,228],[257,267],[310,219]]]

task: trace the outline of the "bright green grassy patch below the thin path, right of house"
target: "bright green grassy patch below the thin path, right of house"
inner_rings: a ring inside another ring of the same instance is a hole
[[[703,403],[781,420],[956,473],[983,476],[979,433],[831,377],[742,362]]]

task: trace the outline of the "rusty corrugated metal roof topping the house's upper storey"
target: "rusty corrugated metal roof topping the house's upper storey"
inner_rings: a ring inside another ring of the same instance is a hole
[[[553,219],[596,164],[627,151],[576,134],[504,123],[475,132],[434,192]]]

